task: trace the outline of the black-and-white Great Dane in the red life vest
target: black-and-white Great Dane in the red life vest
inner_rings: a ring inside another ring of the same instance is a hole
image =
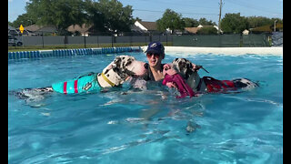
[[[164,66],[164,75],[176,75],[178,73],[186,80],[186,85],[191,87],[195,93],[227,93],[238,88],[258,87],[258,84],[247,78],[236,78],[233,80],[218,80],[214,77],[200,77],[198,70],[203,68],[191,63],[186,58],[176,58],[172,63]],[[204,68],[203,68],[204,69]],[[206,70],[206,69],[205,69]],[[207,72],[207,71],[206,71]],[[177,87],[171,80],[164,81],[168,87]],[[191,96],[191,94],[187,93]]]

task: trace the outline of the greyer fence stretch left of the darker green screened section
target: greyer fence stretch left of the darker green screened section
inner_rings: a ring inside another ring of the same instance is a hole
[[[152,41],[160,41],[165,46],[172,46],[171,35],[126,35],[126,36],[15,36],[22,46],[29,47],[114,47],[114,46],[146,46]],[[10,47],[13,48],[13,47]],[[17,47],[14,47],[17,48]]]

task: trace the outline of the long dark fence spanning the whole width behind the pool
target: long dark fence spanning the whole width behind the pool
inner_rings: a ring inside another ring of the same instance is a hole
[[[279,39],[277,39],[277,37]],[[283,45],[283,35],[168,35],[145,34],[124,36],[15,36],[23,44],[10,48],[88,48],[114,46],[146,46],[152,41],[160,41],[165,46],[242,47]],[[276,43],[273,40],[276,39]],[[281,39],[281,40],[280,40]],[[279,40],[279,41],[278,41]],[[282,42],[282,43],[281,43]]]

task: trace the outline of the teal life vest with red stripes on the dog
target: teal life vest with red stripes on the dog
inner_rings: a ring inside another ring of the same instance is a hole
[[[52,85],[55,92],[64,94],[76,94],[87,91],[100,91],[101,87],[97,82],[97,74],[89,73],[85,76],[76,77],[70,80],[61,81]]]

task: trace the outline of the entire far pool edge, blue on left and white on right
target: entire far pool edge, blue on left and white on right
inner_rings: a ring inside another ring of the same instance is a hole
[[[98,54],[114,54],[124,52],[146,51],[147,46],[125,46],[125,47],[98,47],[81,49],[56,49],[38,51],[8,52],[9,59],[38,58],[47,56],[85,56]],[[283,56],[283,47],[196,47],[196,46],[165,46],[167,53],[189,53],[196,54],[224,54],[224,55],[276,55]]]

